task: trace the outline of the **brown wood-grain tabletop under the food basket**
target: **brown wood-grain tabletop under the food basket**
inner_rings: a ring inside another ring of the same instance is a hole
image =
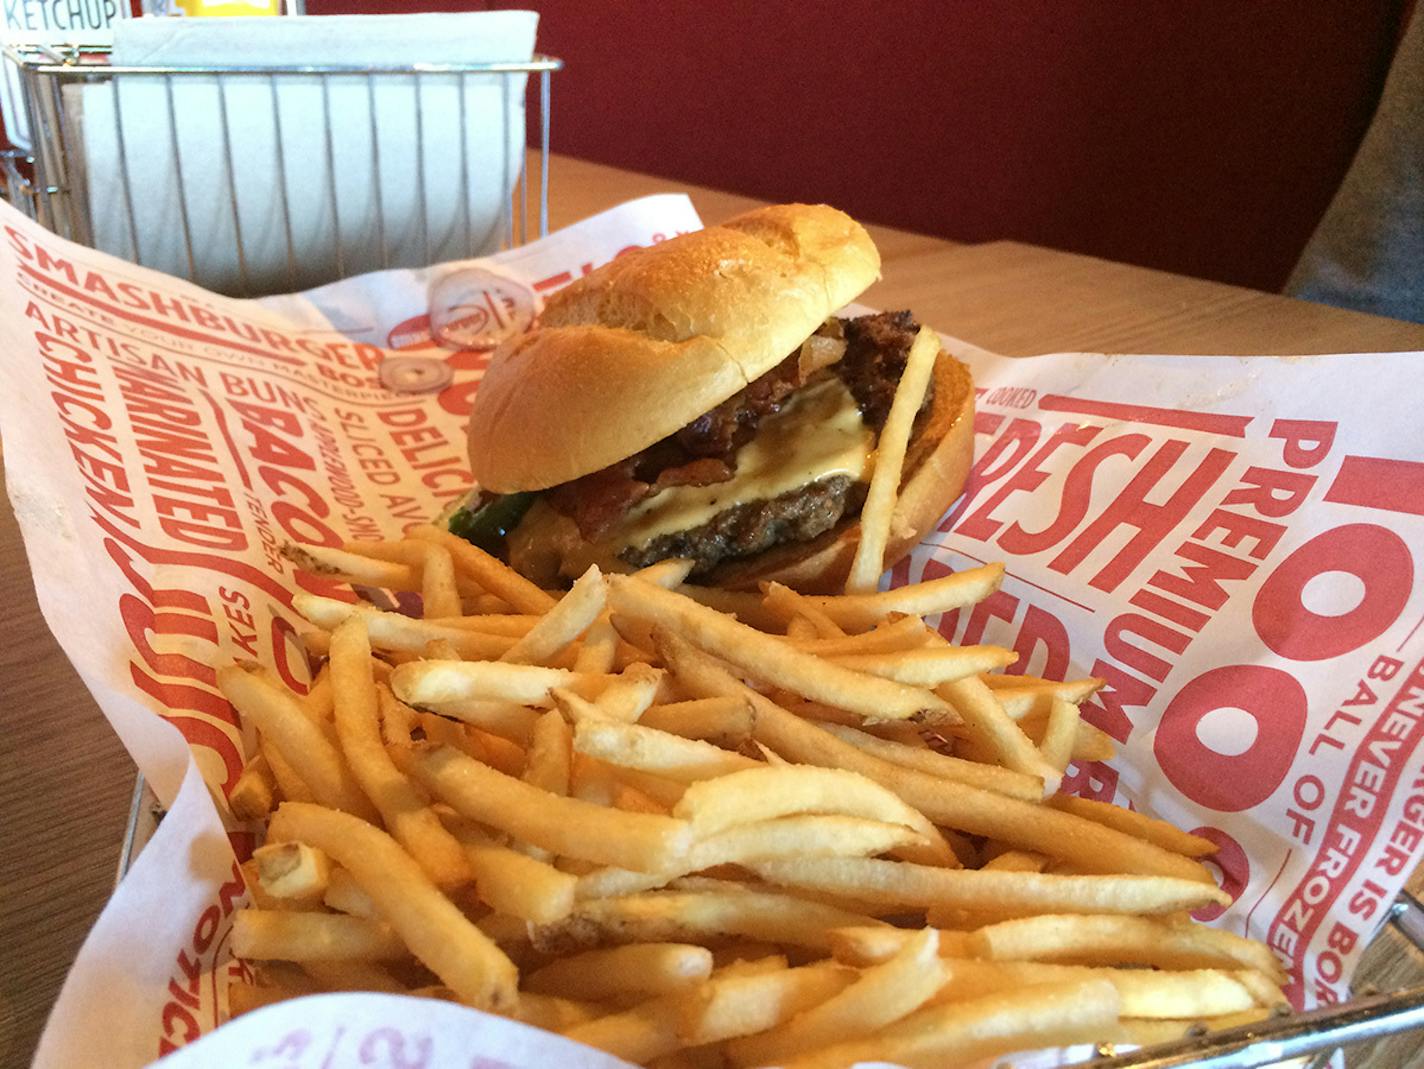
[[[709,222],[759,204],[564,157],[553,159],[550,188],[555,228],[654,192],[689,191]],[[941,330],[1001,353],[1424,350],[1424,326],[1015,242],[963,246],[883,226],[871,232],[884,279],[867,303],[913,307]],[[23,1065],[108,897],[134,769],[46,629],[14,518],[3,512],[0,1063]],[[1371,952],[1368,982],[1391,986],[1408,968],[1424,969],[1400,945]],[[1368,1063],[1404,1065],[1415,1045],[1381,1050]]]

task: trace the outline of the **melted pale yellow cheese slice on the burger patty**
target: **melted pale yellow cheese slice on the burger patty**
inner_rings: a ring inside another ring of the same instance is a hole
[[[736,474],[711,487],[669,487],[639,502],[608,541],[644,545],[658,535],[701,527],[718,512],[765,501],[832,475],[862,480],[874,431],[860,418],[856,399],[836,377],[797,390],[768,416],[756,437],[736,453]]]

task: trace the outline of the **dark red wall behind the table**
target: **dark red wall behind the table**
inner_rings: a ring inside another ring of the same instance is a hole
[[[1368,124],[1407,4],[523,6],[567,61],[560,152],[1279,289]]]

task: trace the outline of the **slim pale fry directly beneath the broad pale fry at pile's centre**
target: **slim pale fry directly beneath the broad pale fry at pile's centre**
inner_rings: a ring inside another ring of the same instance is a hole
[[[672,880],[715,868],[778,855],[867,857],[923,844],[903,824],[842,816],[796,816],[738,824],[699,838],[684,863],[662,873],[595,868],[578,878],[578,898],[609,898],[662,887]]]

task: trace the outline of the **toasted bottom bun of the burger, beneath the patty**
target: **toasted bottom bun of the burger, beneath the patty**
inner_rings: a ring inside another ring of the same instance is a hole
[[[900,495],[890,521],[884,567],[920,544],[964,490],[974,460],[974,381],[970,370],[940,350],[934,403],[906,453]],[[789,542],[743,561],[728,561],[698,579],[699,586],[755,589],[780,582],[803,594],[839,594],[860,542],[860,515],[819,538]]]

